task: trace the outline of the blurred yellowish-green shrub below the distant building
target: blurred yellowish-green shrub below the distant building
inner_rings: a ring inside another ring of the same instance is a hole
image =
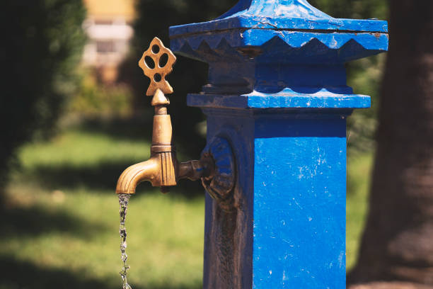
[[[132,113],[132,92],[126,84],[103,86],[95,74],[83,71],[79,91],[71,98],[68,112],[84,118],[122,118]]]

